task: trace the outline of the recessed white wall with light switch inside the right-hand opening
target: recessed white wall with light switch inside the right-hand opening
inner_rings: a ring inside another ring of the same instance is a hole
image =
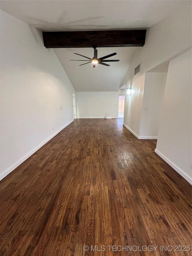
[[[157,139],[158,137],[166,80],[167,73],[146,73],[145,75],[140,139]]]

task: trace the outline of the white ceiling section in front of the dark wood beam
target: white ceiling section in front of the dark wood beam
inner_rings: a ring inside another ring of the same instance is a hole
[[[186,1],[4,0],[1,10],[42,31],[149,28]],[[190,2],[190,1],[188,1]]]

